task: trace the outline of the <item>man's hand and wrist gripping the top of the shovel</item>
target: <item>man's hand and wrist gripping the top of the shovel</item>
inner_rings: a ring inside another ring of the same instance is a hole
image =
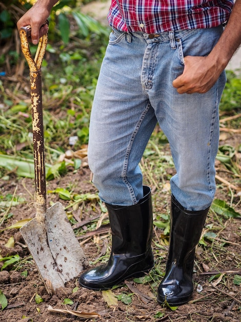
[[[58,0],[38,0],[32,8],[30,8],[17,22],[17,29],[21,27],[31,26],[31,41],[37,44],[39,38],[48,32],[46,20],[50,14],[52,7]]]

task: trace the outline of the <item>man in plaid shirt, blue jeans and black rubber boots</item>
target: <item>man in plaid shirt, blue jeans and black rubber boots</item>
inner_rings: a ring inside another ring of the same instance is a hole
[[[56,0],[38,0],[18,21],[37,43]],[[215,193],[218,104],[224,68],[241,42],[241,0],[113,0],[113,30],[92,106],[89,166],[106,203],[112,231],[109,262],[79,278],[86,288],[111,288],[153,264],[150,188],[138,167],[156,125],[167,136],[171,233],[166,275],[157,300],[182,305],[193,293],[195,246]],[[231,16],[230,16],[231,13]],[[228,24],[223,32],[223,25]]]

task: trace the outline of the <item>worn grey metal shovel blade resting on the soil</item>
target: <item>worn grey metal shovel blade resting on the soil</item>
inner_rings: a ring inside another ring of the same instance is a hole
[[[20,230],[39,273],[53,290],[64,287],[88,266],[61,203],[47,209],[45,222],[34,218]]]

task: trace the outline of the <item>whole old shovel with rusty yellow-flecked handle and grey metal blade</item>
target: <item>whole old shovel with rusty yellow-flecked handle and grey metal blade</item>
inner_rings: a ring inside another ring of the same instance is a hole
[[[36,216],[20,230],[41,274],[46,290],[55,289],[77,277],[88,266],[86,256],[61,203],[46,205],[44,128],[41,65],[48,42],[45,34],[38,43],[33,59],[28,43],[31,26],[19,30],[21,47],[30,69],[33,152],[36,188]]]

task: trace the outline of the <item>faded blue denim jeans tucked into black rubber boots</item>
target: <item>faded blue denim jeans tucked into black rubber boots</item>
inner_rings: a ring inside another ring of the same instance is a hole
[[[208,208],[215,193],[218,104],[223,73],[206,94],[178,94],[184,57],[206,56],[223,27],[163,32],[113,30],[92,106],[88,159],[100,198],[130,206],[143,198],[138,166],[156,123],[168,138],[176,174],[171,191],[186,209]]]

